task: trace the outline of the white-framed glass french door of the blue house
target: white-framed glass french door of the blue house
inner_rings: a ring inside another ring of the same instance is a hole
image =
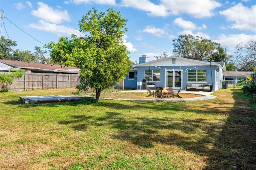
[[[166,70],[166,87],[173,89],[182,87],[182,70]]]

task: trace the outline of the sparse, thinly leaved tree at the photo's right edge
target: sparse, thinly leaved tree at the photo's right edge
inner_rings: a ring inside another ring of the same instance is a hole
[[[236,46],[235,63],[238,71],[254,71],[256,68],[256,40]]]

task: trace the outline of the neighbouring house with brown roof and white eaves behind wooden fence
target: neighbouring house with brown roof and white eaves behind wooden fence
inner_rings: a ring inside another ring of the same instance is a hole
[[[34,63],[34,62],[0,59],[0,68],[1,68],[1,65],[22,69],[28,73],[57,73],[57,74],[78,74],[79,73],[79,68],[77,67],[67,67],[67,66],[62,67],[61,65],[58,65],[58,64]],[[0,69],[0,71],[2,70]]]

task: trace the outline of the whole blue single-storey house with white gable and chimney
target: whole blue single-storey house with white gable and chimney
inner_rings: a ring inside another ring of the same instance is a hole
[[[221,88],[225,63],[210,63],[182,57],[166,57],[147,61],[140,57],[140,63],[133,65],[124,79],[124,87],[146,89],[148,83],[156,87],[173,87],[185,90],[188,84],[212,85],[213,91]],[[142,83],[145,79],[146,82]],[[142,86],[137,86],[142,85]]]

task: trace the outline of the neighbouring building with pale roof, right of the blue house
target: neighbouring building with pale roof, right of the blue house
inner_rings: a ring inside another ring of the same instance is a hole
[[[248,80],[253,71],[227,71],[223,73],[223,80],[228,81],[229,84],[236,84],[240,79]]]

